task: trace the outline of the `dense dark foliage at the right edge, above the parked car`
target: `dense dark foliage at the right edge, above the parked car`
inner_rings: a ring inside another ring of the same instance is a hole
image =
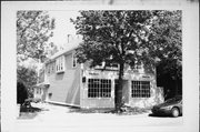
[[[156,49],[153,57],[160,59],[158,75],[170,73],[172,79],[182,79],[182,22],[181,11],[158,11],[150,39]]]

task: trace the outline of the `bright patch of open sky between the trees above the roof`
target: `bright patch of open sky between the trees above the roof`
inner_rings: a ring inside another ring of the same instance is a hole
[[[54,44],[71,49],[78,45],[78,42],[68,43],[68,34],[73,38],[76,35],[74,24],[70,22],[70,18],[76,19],[79,16],[78,10],[68,11],[48,11],[49,16],[56,19],[56,28],[53,30],[53,37],[50,39]]]

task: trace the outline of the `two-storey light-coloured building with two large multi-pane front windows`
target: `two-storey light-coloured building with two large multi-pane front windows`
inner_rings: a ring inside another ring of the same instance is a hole
[[[114,89],[118,85],[119,68],[112,64],[90,68],[89,62],[79,64],[74,49],[62,51],[44,63],[44,81],[36,91],[47,102],[80,108],[114,108]],[[148,108],[163,102],[163,90],[157,87],[156,73],[146,73],[142,68],[124,69],[123,102],[130,106]]]

